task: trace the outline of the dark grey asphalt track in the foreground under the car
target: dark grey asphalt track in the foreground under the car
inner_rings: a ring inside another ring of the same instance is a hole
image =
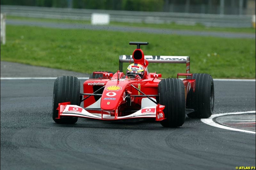
[[[10,63],[1,61],[1,67],[4,64]],[[21,70],[29,68],[19,66]],[[2,71],[1,77],[10,76]],[[26,72],[22,74],[27,77]],[[75,125],[59,125],[50,116],[54,80],[0,83],[1,170],[234,170],[236,166],[255,166],[254,134],[212,127],[188,117],[182,127],[173,129],[157,122],[81,118]],[[255,110],[255,81],[215,81],[214,85],[214,114]]]

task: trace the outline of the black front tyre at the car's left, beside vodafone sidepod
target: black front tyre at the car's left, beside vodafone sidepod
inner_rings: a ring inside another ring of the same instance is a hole
[[[60,76],[54,82],[53,100],[52,100],[52,119],[56,123],[74,124],[77,122],[77,117],[58,117],[59,103],[71,102],[71,105],[80,105],[80,81],[73,76]]]

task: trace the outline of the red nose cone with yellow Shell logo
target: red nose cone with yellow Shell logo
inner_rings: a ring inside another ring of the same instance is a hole
[[[117,85],[117,81],[110,80],[107,82],[100,102],[102,110],[113,111],[123,102],[127,83],[119,81]]]

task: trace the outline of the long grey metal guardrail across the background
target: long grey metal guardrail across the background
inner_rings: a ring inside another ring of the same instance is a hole
[[[57,18],[74,20],[91,20],[92,13],[107,13],[110,22],[130,23],[176,23],[216,27],[252,27],[251,15],[220,15],[220,14],[196,14],[176,12],[146,12],[146,11],[113,11],[113,10],[90,10],[71,8],[49,8],[35,6],[1,5],[1,12],[11,16],[33,18]]]

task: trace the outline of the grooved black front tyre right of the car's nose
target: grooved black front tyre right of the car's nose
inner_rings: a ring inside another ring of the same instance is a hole
[[[185,122],[186,100],[184,84],[177,78],[166,78],[158,85],[159,104],[164,105],[164,127],[179,127]]]

